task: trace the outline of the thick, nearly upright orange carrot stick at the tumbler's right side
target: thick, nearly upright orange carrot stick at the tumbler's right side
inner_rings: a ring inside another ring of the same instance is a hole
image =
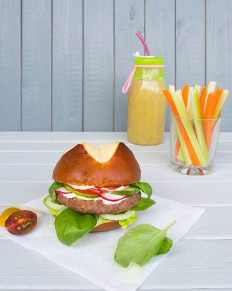
[[[206,107],[205,107],[205,114],[204,114],[204,119],[203,120],[203,129],[204,129],[204,136],[205,136],[205,141],[207,145],[207,149],[209,151],[210,144],[211,144],[211,137],[212,137],[212,123],[213,120],[208,120],[212,119],[214,116],[214,105],[216,101],[216,93],[210,93],[207,99]],[[206,120],[207,119],[207,120]]]

